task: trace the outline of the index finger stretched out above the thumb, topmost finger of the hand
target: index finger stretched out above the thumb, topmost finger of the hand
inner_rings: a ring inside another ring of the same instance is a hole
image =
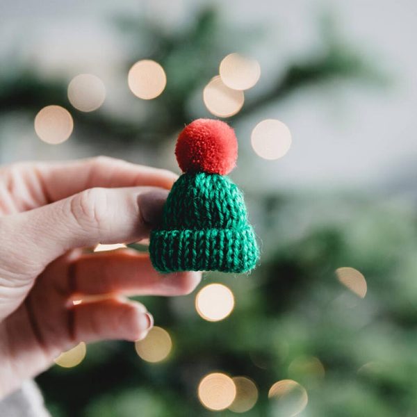
[[[32,166],[48,202],[95,187],[154,186],[170,189],[178,178],[168,170],[107,156],[63,163],[35,163]]]

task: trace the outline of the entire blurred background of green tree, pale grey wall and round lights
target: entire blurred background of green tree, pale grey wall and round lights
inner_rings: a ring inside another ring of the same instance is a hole
[[[0,163],[179,172],[179,131],[218,117],[262,248],[251,275],[141,298],[145,341],[61,355],[37,379],[53,416],[417,415],[416,18],[411,0],[0,3]]]

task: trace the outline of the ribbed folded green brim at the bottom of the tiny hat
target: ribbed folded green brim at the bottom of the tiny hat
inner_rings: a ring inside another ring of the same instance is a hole
[[[254,230],[154,230],[149,252],[159,272],[252,270],[259,257]]]

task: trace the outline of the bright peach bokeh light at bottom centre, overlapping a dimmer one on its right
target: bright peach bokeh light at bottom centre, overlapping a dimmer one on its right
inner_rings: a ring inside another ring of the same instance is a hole
[[[199,383],[198,398],[210,410],[227,409],[235,397],[236,386],[233,379],[223,373],[208,374]]]

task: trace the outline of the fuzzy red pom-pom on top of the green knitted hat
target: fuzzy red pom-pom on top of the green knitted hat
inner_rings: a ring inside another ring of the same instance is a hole
[[[179,134],[175,155],[183,172],[226,175],[236,166],[238,141],[227,123],[197,119]]]

